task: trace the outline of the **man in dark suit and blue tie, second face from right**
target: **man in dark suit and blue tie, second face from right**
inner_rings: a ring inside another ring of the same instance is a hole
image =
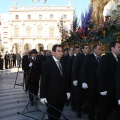
[[[101,57],[102,49],[100,45],[93,46],[93,54],[85,57],[81,68],[82,88],[87,89],[88,95],[88,118],[95,119],[95,106],[97,103],[97,66]],[[102,120],[102,119],[101,119]]]

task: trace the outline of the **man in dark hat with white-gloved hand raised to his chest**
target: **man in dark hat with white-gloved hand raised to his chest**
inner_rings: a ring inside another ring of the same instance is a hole
[[[37,50],[32,49],[31,56],[32,58],[29,61],[29,73],[28,73],[28,88],[29,88],[29,99],[31,102],[31,106],[33,106],[33,96],[30,94],[34,94],[38,96],[39,90],[39,81],[41,75],[41,60],[37,55]]]

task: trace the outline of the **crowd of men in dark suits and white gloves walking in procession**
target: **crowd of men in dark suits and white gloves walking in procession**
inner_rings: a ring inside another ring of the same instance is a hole
[[[32,94],[38,96],[40,90],[38,97],[46,104],[49,120],[60,119],[64,105],[78,118],[84,112],[89,120],[107,120],[115,110],[114,119],[120,120],[120,43],[111,42],[109,50],[102,55],[99,44],[92,51],[88,44],[64,50],[56,44],[42,54],[29,50],[22,57],[22,69],[31,106]]]

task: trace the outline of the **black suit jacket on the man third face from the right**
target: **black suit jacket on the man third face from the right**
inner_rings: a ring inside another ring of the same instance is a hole
[[[78,80],[78,84],[81,83],[81,68],[85,59],[85,54],[78,54],[73,62],[72,68],[72,80]]]

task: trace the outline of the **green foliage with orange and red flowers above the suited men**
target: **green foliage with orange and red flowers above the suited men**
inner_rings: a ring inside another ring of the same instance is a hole
[[[119,40],[116,34],[120,35],[120,23],[118,17],[108,18],[104,23],[95,24],[93,21],[87,23],[85,31],[78,30],[77,18],[73,22],[73,29],[70,31],[69,38],[62,42],[63,46],[75,46],[82,43],[101,42],[107,44]]]

